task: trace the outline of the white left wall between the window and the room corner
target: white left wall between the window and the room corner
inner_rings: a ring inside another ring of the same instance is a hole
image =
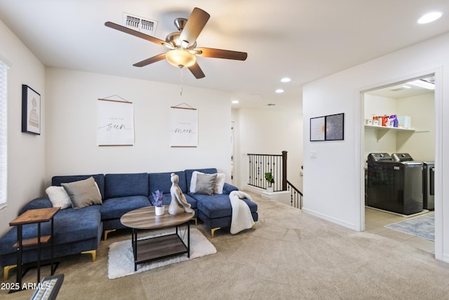
[[[0,20],[0,59],[8,70],[8,203],[0,211],[0,235],[31,197],[43,192],[46,126],[41,135],[21,132],[22,84],[41,94],[41,118],[45,119],[44,67]]]

